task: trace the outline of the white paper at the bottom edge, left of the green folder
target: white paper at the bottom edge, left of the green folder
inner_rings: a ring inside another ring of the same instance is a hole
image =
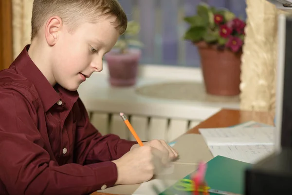
[[[154,191],[152,185],[155,185],[159,193],[162,193],[168,187],[175,184],[175,182],[177,182],[177,180],[153,179],[142,183],[132,195],[157,195],[158,193]]]

